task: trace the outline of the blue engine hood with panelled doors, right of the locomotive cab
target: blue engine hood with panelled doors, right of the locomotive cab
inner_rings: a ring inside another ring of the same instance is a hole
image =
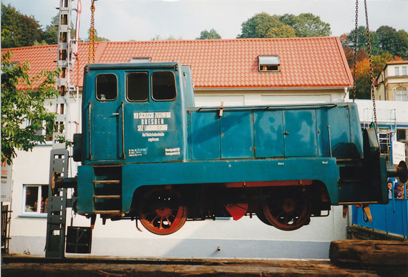
[[[353,113],[346,103],[190,109],[192,159],[361,158]]]

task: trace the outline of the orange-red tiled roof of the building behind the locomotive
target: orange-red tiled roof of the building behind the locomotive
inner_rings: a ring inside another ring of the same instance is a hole
[[[80,44],[79,85],[87,63],[88,44]],[[57,47],[10,48],[13,61],[31,61],[32,73],[55,68]],[[278,55],[281,72],[258,72],[258,55]],[[190,65],[196,89],[350,87],[353,78],[338,37],[287,39],[209,39],[150,42],[98,42],[97,63],[152,62]],[[73,78],[76,84],[76,78]]]

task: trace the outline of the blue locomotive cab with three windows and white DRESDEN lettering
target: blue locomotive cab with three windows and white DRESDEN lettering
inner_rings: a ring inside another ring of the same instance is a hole
[[[89,64],[85,72],[83,149],[75,149],[76,161],[186,161],[186,114],[182,111],[194,106],[188,66],[177,62]]]

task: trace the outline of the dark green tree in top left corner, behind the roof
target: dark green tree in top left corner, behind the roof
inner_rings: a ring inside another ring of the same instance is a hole
[[[1,48],[32,46],[41,42],[42,29],[33,16],[22,15],[1,3]]]

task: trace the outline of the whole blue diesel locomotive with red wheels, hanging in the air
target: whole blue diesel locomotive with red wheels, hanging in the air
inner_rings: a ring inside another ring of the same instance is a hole
[[[74,208],[159,235],[244,215],[299,229],[331,205],[387,204],[387,176],[407,178],[363,133],[354,103],[195,107],[188,66],[89,64]]]

